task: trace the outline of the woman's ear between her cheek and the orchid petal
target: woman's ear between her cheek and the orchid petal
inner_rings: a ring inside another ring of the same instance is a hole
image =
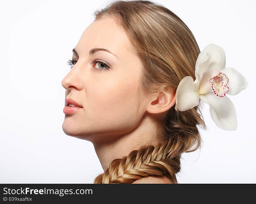
[[[147,111],[149,113],[162,113],[169,110],[176,102],[176,90],[165,89],[157,95],[157,99],[148,104]]]

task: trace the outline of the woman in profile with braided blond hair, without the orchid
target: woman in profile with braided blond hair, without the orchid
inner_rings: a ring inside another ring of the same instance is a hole
[[[175,110],[181,80],[195,80],[195,37],[150,1],[114,1],[94,14],[62,81],[63,131],[93,143],[104,169],[94,183],[177,183],[181,154],[200,148],[198,127],[207,129],[199,98]]]

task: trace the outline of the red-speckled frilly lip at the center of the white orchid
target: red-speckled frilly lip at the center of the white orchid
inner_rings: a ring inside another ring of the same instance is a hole
[[[217,75],[210,78],[211,89],[217,97],[224,97],[226,95],[225,93],[229,91],[227,86],[229,79],[227,78],[227,75],[221,73],[219,70],[217,73]]]

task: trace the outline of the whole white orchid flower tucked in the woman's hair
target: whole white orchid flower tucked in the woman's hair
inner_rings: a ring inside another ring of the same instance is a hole
[[[184,77],[176,91],[176,111],[186,111],[200,103],[209,105],[212,120],[223,130],[237,129],[234,104],[226,96],[237,95],[248,87],[248,82],[236,69],[225,68],[223,48],[209,44],[198,55],[195,63],[195,81]]]

